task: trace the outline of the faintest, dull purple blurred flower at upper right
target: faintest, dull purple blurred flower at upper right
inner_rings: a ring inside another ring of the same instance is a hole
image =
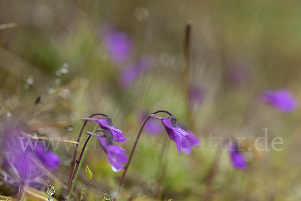
[[[227,70],[226,76],[230,84],[236,88],[246,86],[250,81],[250,70],[242,61],[234,62]]]

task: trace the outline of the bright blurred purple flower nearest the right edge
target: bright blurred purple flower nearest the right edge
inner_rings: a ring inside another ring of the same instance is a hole
[[[292,112],[297,107],[297,100],[287,89],[266,90],[261,94],[263,102],[272,105],[283,113]]]

